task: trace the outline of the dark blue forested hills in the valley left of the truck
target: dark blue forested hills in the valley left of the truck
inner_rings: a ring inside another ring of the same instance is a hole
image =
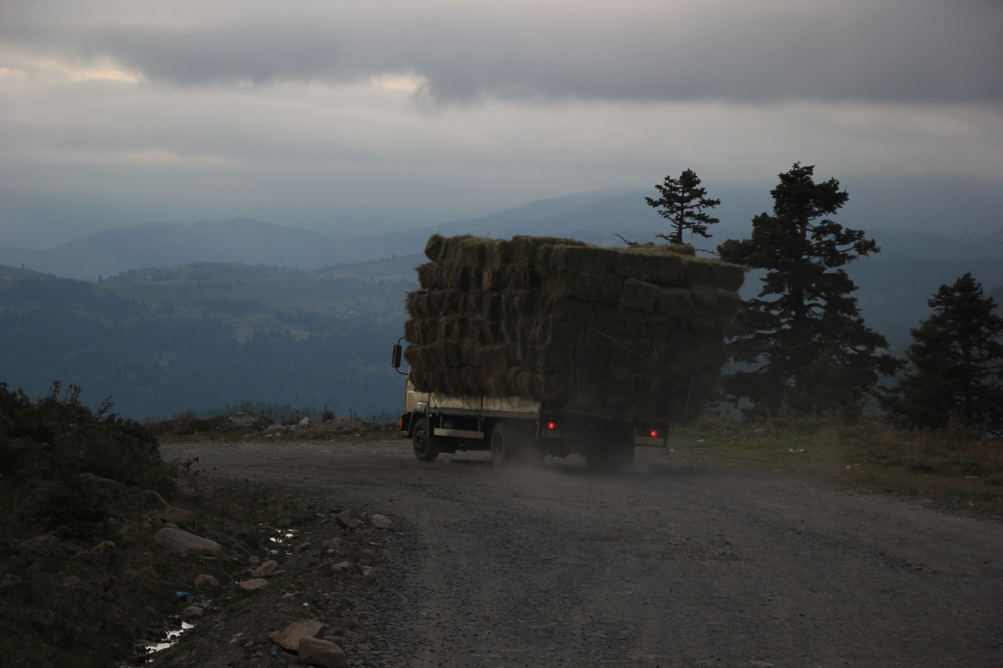
[[[389,354],[409,280],[195,268],[194,278],[180,267],[155,279],[0,281],[0,382],[31,397],[53,381],[77,385],[88,403],[111,397],[138,419],[242,402],[399,410],[403,377]]]

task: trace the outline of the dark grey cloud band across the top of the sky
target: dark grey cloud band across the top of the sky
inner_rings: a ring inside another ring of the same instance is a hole
[[[1003,97],[999,2],[613,4],[240,3],[79,29],[39,12],[5,39],[180,85],[412,73],[437,102]]]

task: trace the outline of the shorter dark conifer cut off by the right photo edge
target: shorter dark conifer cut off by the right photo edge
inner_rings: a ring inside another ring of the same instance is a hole
[[[933,314],[911,329],[911,369],[884,403],[919,427],[938,428],[953,415],[1003,428],[1003,317],[971,272],[941,285],[927,303]]]

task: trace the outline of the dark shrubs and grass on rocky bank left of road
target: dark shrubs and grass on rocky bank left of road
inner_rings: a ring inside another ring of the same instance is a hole
[[[55,384],[32,402],[0,384],[4,665],[112,666],[136,657],[136,641],[162,640],[192,602],[242,605],[233,571],[268,550],[236,546],[235,524],[305,519],[287,497],[219,490],[193,462],[161,461],[154,432],[111,408],[83,406],[73,387]],[[164,551],[153,536],[171,520],[218,541],[223,556]],[[221,588],[197,587],[203,574]]]

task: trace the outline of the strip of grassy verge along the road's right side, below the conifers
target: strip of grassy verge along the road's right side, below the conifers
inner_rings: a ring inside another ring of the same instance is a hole
[[[673,429],[668,448],[650,456],[732,471],[777,472],[1003,516],[1003,441],[960,425],[895,430],[878,422],[736,423],[707,417]]]

